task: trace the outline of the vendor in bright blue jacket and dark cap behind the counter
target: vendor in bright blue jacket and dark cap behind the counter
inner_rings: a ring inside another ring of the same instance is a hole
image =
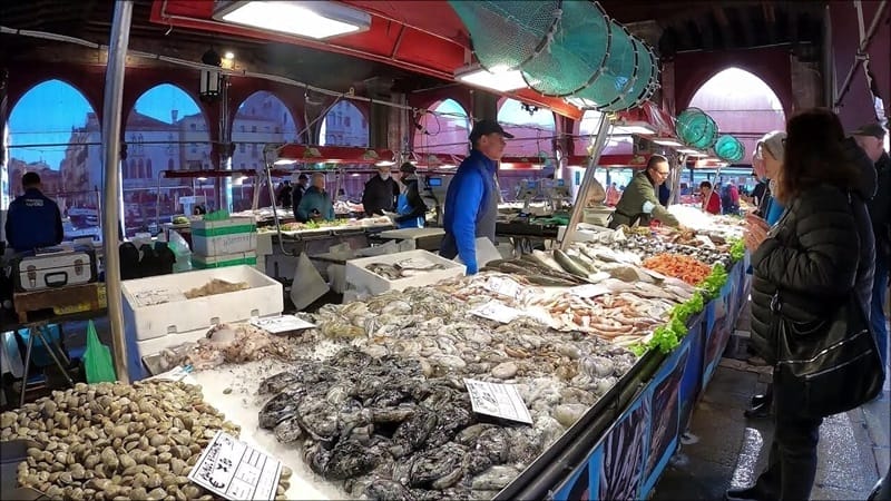
[[[468,275],[478,272],[476,239],[487,237],[495,243],[499,199],[495,176],[498,160],[505,155],[505,138],[513,136],[497,121],[478,121],[470,131],[470,156],[458,166],[446,193],[446,236],[440,255],[449,259],[461,257]]]

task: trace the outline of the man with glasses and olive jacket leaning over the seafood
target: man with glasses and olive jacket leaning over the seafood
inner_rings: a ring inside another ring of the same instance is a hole
[[[650,219],[658,219],[667,226],[679,226],[677,218],[659,203],[656,195],[670,173],[667,158],[662,155],[649,157],[646,170],[637,173],[621,194],[609,227],[631,226],[635,222],[648,225]]]

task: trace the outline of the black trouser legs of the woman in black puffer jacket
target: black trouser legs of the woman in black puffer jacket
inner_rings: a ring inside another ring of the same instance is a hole
[[[774,405],[774,410],[777,406]],[[767,469],[755,489],[765,499],[800,501],[811,498],[816,478],[816,444],[822,419],[774,414],[774,435]]]

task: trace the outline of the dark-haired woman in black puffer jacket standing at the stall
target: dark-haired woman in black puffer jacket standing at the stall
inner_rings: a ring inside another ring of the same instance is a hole
[[[745,236],[754,268],[752,341],[771,364],[776,362],[771,328],[775,294],[782,294],[783,315],[792,321],[826,321],[849,294],[869,304],[874,264],[865,200],[875,187],[866,186],[862,167],[845,157],[839,117],[828,109],[804,111],[789,120],[786,132],[774,189],[786,212],[770,232],[750,228]],[[782,393],[777,386],[774,400]],[[810,498],[823,420],[785,412],[775,407],[767,469],[753,487],[730,490],[726,499]]]

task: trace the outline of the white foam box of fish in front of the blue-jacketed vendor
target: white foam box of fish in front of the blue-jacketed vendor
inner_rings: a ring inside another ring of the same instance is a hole
[[[386,279],[378,274],[371,273],[365,269],[365,266],[372,263],[381,263],[392,265],[403,261],[427,262],[430,264],[441,264],[443,269],[434,269],[432,272],[419,273],[414,276],[398,278],[394,281]],[[467,268],[464,265],[456,263],[444,257],[440,257],[427,250],[405,250],[402,253],[386,254],[383,256],[362,257],[359,259],[350,259],[346,262],[346,284],[347,288],[355,291],[368,291],[371,294],[383,294],[388,291],[402,291],[407,287],[419,287],[423,285],[435,284],[437,282],[452,278],[456,276],[464,275]]]

